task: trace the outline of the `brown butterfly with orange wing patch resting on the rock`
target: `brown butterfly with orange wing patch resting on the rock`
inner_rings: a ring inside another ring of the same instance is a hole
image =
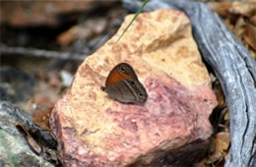
[[[115,66],[106,78],[105,87],[101,86],[101,89],[110,98],[122,103],[144,103],[148,97],[135,71],[127,63]]]

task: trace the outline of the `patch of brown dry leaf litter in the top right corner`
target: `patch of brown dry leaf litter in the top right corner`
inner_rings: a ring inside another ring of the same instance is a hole
[[[256,2],[209,3],[256,59]]]

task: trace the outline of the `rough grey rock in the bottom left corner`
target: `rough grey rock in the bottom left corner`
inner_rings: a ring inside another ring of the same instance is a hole
[[[27,124],[31,120],[30,115],[10,103],[0,102],[0,166],[53,167],[54,165],[32,151],[24,134],[18,130],[20,116]]]

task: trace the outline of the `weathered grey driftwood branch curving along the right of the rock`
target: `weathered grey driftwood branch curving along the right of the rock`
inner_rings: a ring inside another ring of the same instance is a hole
[[[142,5],[139,1],[123,2],[133,12]],[[144,10],[159,8],[178,9],[189,17],[200,52],[222,83],[229,110],[231,140],[225,166],[255,166],[255,60],[206,4],[188,0],[152,0]]]

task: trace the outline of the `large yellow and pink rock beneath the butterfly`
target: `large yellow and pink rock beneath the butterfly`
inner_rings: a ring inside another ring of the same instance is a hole
[[[189,20],[167,9],[141,14],[115,44],[133,17],[80,66],[55,105],[51,128],[66,166],[187,165],[204,156],[217,101]],[[121,62],[147,89],[144,105],[100,90]]]

